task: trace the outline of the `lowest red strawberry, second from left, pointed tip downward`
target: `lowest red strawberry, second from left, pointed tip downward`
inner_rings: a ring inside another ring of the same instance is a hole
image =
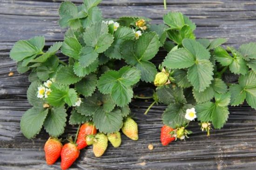
[[[79,157],[80,151],[74,143],[67,143],[61,150],[61,170],[67,170]]]

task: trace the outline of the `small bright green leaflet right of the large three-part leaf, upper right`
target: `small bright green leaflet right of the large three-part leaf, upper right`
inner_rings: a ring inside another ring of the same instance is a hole
[[[216,47],[216,49],[214,50],[214,57],[217,62],[222,64],[222,66],[228,66],[233,61],[233,58],[222,47]]]

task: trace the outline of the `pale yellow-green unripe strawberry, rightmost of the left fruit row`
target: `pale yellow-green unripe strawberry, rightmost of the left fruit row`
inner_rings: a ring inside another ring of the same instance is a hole
[[[130,117],[128,117],[122,127],[122,132],[132,140],[138,140],[138,125],[137,123]]]

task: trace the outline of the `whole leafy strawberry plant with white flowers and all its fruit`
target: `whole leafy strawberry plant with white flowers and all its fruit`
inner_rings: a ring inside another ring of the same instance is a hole
[[[165,14],[159,25],[145,17],[104,19],[97,7],[100,2],[62,2],[59,25],[67,28],[63,42],[46,49],[44,37],[37,36],[18,41],[10,51],[17,70],[30,73],[27,100],[33,107],[21,118],[21,132],[32,139],[46,130],[51,141],[45,146],[48,164],[61,155],[61,167],[67,169],[87,145],[93,145],[94,155],[100,157],[108,140],[114,147],[121,145],[120,130],[138,140],[129,103],[139,98],[133,88],[140,82],[156,87],[150,107],[167,105],[162,114],[163,145],[188,137],[192,132],[187,126],[195,119],[208,135],[211,128],[222,128],[229,105],[247,101],[256,108],[256,43],[236,50],[223,48],[223,38],[196,39],[195,23],[177,12]],[[158,72],[151,60],[159,48],[168,54]],[[229,82],[228,74],[239,78]],[[74,142],[62,147],[55,138],[67,124],[79,128]],[[51,150],[54,145],[56,153]],[[49,157],[52,152],[54,157]]]

